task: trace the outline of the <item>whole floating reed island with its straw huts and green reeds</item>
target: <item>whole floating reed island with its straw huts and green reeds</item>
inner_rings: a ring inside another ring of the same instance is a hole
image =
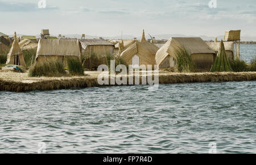
[[[33,36],[23,36],[20,40],[15,33],[11,48],[8,40],[0,38],[5,44],[0,47],[0,91],[29,92],[152,82],[256,81],[256,57],[250,64],[240,60],[240,30],[227,31],[224,38],[221,42],[217,39],[205,42],[200,37],[172,37],[159,48],[153,37],[151,41],[146,40],[144,30],[141,41],[119,40],[117,43],[89,40],[85,35],[81,40],[63,39],[61,35],[60,39],[52,38],[48,29],[42,30],[39,41]],[[102,65],[107,67],[105,72],[92,71]],[[121,65],[125,69],[129,66],[129,72],[130,66],[137,71],[124,73],[121,78],[113,73]],[[153,71],[152,78],[149,71],[139,71],[143,70],[140,66],[146,65],[152,66],[147,70],[154,70],[158,65],[159,74],[154,75]]]

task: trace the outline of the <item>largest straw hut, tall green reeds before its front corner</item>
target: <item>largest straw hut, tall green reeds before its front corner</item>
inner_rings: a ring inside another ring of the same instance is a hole
[[[174,68],[175,54],[180,48],[187,50],[199,69],[212,67],[216,58],[216,53],[200,37],[172,37],[156,53],[155,61],[159,68]]]

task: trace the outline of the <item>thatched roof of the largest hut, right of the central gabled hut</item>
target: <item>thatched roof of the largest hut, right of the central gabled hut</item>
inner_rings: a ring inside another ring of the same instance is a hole
[[[172,37],[156,53],[156,64],[161,65],[168,55],[175,57],[179,48],[185,48],[189,54],[215,53],[200,37]]]

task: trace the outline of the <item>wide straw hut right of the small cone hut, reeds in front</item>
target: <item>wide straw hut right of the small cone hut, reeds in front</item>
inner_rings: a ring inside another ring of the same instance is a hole
[[[77,58],[81,61],[79,40],[39,40],[36,62],[53,60],[65,64],[66,57]]]

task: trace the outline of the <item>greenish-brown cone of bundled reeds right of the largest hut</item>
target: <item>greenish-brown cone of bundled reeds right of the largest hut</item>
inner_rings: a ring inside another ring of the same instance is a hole
[[[210,69],[211,72],[214,71],[232,71],[232,67],[229,63],[228,58],[226,57],[224,43],[221,40],[220,49],[218,50],[218,54],[216,60]]]

